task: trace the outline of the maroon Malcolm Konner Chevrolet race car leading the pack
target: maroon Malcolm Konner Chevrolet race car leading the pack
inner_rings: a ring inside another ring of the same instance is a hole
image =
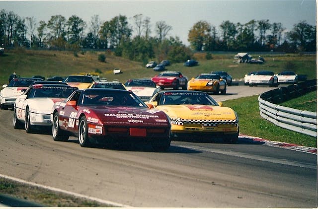
[[[80,146],[92,143],[150,143],[164,151],[170,146],[170,119],[150,109],[131,91],[89,88],[75,91],[51,111],[55,141],[79,138]]]

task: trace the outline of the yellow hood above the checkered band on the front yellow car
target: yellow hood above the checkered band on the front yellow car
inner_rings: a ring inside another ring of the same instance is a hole
[[[165,112],[171,120],[236,120],[234,110],[212,105],[161,105],[156,109]]]

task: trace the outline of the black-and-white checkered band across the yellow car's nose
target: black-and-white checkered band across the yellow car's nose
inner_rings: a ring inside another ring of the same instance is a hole
[[[235,125],[238,126],[237,120],[191,120],[191,119],[173,119],[171,118],[171,124],[183,126],[184,123],[187,124],[203,124],[205,127],[215,127],[218,125]]]

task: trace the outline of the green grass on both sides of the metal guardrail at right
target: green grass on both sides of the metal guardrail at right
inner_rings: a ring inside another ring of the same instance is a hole
[[[260,117],[257,98],[258,96],[255,95],[223,102],[224,106],[231,107],[237,111],[239,115],[240,134],[274,141],[295,143],[303,146],[317,147],[317,139],[315,137],[280,128]],[[316,100],[316,91],[290,100],[288,103],[291,104],[290,107],[296,108],[295,106],[297,106],[299,103],[306,101],[304,98]],[[294,106],[294,104],[297,105]],[[299,107],[297,109],[307,110],[307,108],[310,110],[315,110],[317,109],[317,103],[310,102],[306,108]]]

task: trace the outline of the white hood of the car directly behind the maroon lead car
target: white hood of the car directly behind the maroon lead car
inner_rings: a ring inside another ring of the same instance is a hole
[[[65,98],[32,98],[27,100],[30,112],[38,114],[50,114],[56,102],[63,101]]]

